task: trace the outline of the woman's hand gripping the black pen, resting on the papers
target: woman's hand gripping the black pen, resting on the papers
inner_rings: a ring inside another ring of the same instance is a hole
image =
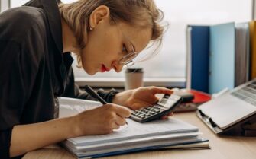
[[[125,118],[131,112],[126,107],[114,103],[105,104],[96,109],[86,110],[74,117],[75,135],[100,135],[108,134],[114,129],[125,125]]]

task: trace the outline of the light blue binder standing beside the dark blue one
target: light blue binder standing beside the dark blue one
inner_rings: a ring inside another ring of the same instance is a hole
[[[235,87],[235,23],[210,27],[209,93]]]

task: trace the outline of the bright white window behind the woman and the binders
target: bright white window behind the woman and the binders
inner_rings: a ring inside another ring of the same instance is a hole
[[[8,2],[7,0],[2,0]],[[62,2],[74,2],[63,0]],[[186,25],[187,24],[220,24],[229,21],[244,22],[252,19],[253,0],[155,0],[158,8],[165,13],[164,21],[170,24],[164,35],[162,49],[152,59],[138,62],[135,66],[144,69],[146,84],[158,84],[172,87],[183,87],[186,72]],[[28,0],[11,0],[10,6],[17,7]],[[150,49],[141,52],[147,54]],[[114,84],[122,86],[124,72],[98,73],[95,76],[86,75],[74,64],[76,81],[93,81],[97,85]],[[153,83],[152,83],[153,82]],[[155,83],[157,82],[157,83]],[[88,84],[88,83],[87,83]]]

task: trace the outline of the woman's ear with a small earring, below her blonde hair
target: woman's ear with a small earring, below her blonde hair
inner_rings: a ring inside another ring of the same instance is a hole
[[[109,8],[105,5],[100,5],[89,16],[89,28],[94,29],[98,24],[103,21],[109,21]]]

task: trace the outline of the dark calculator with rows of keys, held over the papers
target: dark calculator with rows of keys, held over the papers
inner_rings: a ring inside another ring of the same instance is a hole
[[[164,94],[153,106],[143,107],[140,110],[134,110],[130,118],[137,122],[149,122],[154,119],[160,119],[161,116],[173,111],[182,100],[182,97],[174,94]]]

